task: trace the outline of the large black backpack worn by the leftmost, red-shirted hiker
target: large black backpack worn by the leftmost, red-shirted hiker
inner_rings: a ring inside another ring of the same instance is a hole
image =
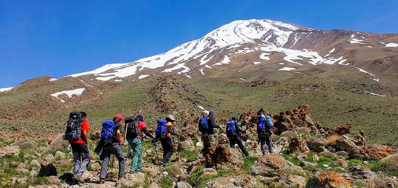
[[[66,131],[64,133],[64,140],[71,142],[82,138],[82,135],[80,135],[82,131],[80,123],[82,123],[82,121],[83,118],[80,112],[74,111],[69,114],[69,120],[65,122]]]

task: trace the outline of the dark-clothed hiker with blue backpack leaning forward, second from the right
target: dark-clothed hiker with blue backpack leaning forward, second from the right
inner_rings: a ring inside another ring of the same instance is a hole
[[[226,133],[229,140],[229,146],[231,148],[235,148],[235,143],[238,144],[240,150],[243,152],[245,156],[249,156],[249,153],[246,151],[246,148],[243,146],[242,139],[239,136],[239,132],[246,134],[246,130],[241,130],[239,128],[238,117],[233,116],[231,121],[227,122]]]

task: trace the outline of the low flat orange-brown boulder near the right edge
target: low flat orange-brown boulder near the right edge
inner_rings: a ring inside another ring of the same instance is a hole
[[[359,147],[349,152],[350,158],[360,160],[380,160],[389,154],[394,153],[394,150],[388,146],[372,145],[368,147]]]

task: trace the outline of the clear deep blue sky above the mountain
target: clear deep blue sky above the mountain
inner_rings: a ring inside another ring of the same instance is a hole
[[[0,0],[0,88],[131,62],[252,18],[398,33],[398,1]]]

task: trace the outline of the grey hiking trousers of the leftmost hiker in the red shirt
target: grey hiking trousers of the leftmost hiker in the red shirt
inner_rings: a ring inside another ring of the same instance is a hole
[[[87,144],[71,144],[74,159],[73,174],[82,176],[90,164],[90,150]]]

